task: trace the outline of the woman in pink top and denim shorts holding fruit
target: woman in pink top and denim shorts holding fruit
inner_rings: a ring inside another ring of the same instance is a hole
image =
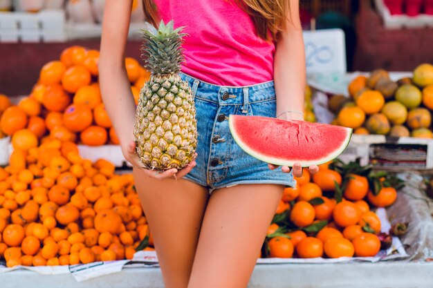
[[[166,287],[246,287],[284,186],[302,175],[243,153],[230,114],[303,119],[305,56],[297,0],[144,0],[147,21],[185,26],[199,144],[187,168],[143,169],[125,70],[132,0],[107,0],[100,54],[104,104],[154,236]],[[275,84],[274,84],[275,83]],[[195,168],[194,168],[195,167]],[[318,171],[311,166],[310,172]]]

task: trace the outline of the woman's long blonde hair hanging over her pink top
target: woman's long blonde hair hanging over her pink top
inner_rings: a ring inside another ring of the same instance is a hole
[[[226,0],[230,1],[230,0]],[[257,35],[261,39],[277,39],[278,33],[286,30],[289,0],[232,0],[251,16]],[[154,0],[142,0],[149,23],[158,25],[159,15]],[[269,35],[270,34],[270,35]]]

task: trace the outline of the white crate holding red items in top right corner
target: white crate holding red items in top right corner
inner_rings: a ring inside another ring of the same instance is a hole
[[[383,0],[375,0],[376,8],[383,19],[383,25],[389,29],[433,27],[433,15],[420,14],[416,17],[391,15]]]

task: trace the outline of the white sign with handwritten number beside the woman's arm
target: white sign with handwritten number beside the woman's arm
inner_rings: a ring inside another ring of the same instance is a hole
[[[304,31],[306,73],[346,73],[346,46],[341,29]]]

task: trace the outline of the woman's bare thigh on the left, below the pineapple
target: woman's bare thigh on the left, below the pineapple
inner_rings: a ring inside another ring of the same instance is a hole
[[[208,189],[188,180],[156,180],[133,170],[167,288],[187,287]]]

